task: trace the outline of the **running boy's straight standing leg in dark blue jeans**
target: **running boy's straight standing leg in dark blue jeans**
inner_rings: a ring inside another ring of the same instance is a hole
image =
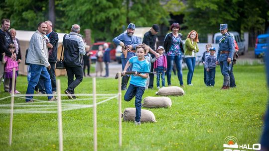
[[[140,86],[135,86],[136,87],[136,94],[135,94],[135,121],[136,122],[140,122],[140,118],[141,118],[141,101],[142,101],[142,96],[144,94],[144,87],[140,87]]]

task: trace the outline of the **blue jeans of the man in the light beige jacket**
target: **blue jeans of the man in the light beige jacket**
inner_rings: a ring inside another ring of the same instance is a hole
[[[27,86],[26,94],[33,94],[34,87],[37,85],[39,78],[44,79],[44,86],[47,94],[52,94],[51,89],[51,80],[50,76],[48,74],[47,68],[43,65],[34,65],[30,64],[29,70],[31,71],[31,77]],[[27,96],[26,102],[30,101],[33,98],[33,96]],[[52,96],[48,96],[48,99],[51,99]]]

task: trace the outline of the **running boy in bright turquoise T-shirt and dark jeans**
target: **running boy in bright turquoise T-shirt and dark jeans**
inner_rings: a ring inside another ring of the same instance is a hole
[[[129,59],[127,62],[123,75],[125,75],[128,67],[133,64],[132,71],[135,71],[134,75],[131,75],[130,85],[124,95],[124,100],[131,101],[135,96],[135,125],[140,125],[140,118],[141,118],[141,101],[142,95],[144,94],[145,86],[146,86],[146,79],[148,74],[137,74],[137,72],[149,72],[150,64],[144,58],[146,53],[145,45],[137,45],[136,46],[136,56]]]

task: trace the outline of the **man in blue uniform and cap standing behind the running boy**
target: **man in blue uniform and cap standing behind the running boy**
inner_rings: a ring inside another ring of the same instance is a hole
[[[122,60],[122,70],[124,70],[125,65],[127,64],[128,60],[135,56],[135,47],[140,44],[140,40],[138,37],[134,36],[134,23],[130,23],[127,27],[127,33],[122,33],[118,37],[113,39],[113,42],[116,45],[120,45],[123,47],[122,51],[123,54],[121,55]],[[132,70],[132,65],[128,68],[127,71]],[[127,83],[129,81],[130,75],[123,76],[122,79],[122,90],[127,89]]]

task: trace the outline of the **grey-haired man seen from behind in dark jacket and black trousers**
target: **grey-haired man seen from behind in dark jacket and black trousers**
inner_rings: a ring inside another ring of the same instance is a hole
[[[80,26],[72,25],[71,32],[64,38],[64,65],[66,68],[68,87],[64,91],[69,99],[75,99],[75,88],[83,79],[83,56],[85,47],[82,35],[79,34]],[[74,80],[74,75],[76,79]]]

